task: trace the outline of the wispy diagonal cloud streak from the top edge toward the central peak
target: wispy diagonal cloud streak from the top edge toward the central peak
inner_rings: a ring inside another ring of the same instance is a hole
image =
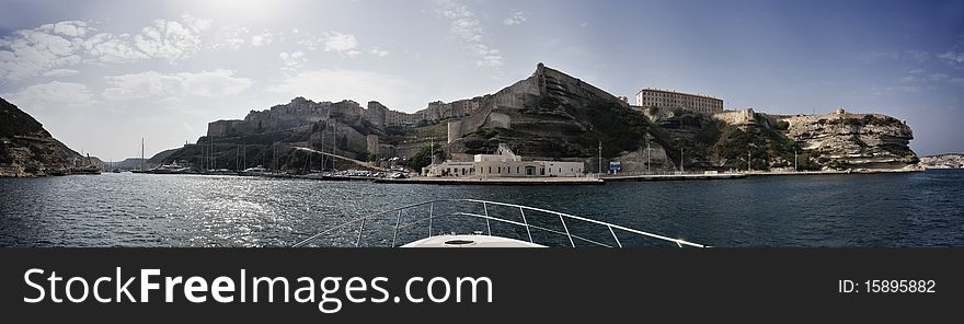
[[[480,67],[501,67],[503,57],[498,49],[491,48],[482,40],[482,22],[469,9],[451,0],[437,0],[437,12],[443,18],[451,20],[449,33],[464,44],[475,57],[475,65]],[[501,74],[501,70],[494,70]]]

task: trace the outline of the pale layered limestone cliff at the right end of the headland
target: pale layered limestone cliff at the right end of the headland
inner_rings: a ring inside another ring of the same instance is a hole
[[[818,152],[834,169],[899,169],[918,162],[908,147],[914,132],[904,121],[881,114],[790,116],[787,135],[805,150]]]

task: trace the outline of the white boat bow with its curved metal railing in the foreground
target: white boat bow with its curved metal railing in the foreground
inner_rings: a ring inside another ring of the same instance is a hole
[[[623,247],[651,243],[707,247],[585,217],[479,199],[431,200],[381,211],[329,228],[292,246]]]

